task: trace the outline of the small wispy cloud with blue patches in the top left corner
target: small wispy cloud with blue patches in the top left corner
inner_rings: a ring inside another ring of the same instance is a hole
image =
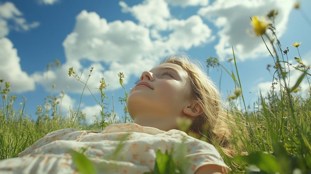
[[[12,2],[0,3],[0,37],[7,36],[10,29],[27,31],[39,26],[39,22],[28,23],[22,15]]]

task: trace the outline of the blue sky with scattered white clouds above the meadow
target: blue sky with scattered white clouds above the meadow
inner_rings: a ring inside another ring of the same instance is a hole
[[[83,85],[69,77],[74,67],[92,93],[98,96],[103,77],[109,86],[106,95],[114,104],[118,116],[123,108],[118,102],[124,97],[117,74],[125,74],[127,91],[144,70],[149,70],[163,58],[186,52],[202,62],[216,57],[232,70],[232,46],[246,104],[252,107],[259,89],[270,89],[272,73],[266,67],[273,64],[260,38],[251,32],[250,17],[265,15],[278,9],[276,28],[283,49],[289,47],[289,61],[297,65],[294,42],[302,42],[300,54],[311,63],[310,0],[0,0],[0,79],[12,85],[11,94],[18,98],[15,107],[36,118],[38,105],[52,94],[65,96],[60,102],[64,115],[70,108],[77,110]],[[47,69],[55,59],[60,67]],[[210,69],[208,74],[223,93],[224,100],[234,90],[232,79],[224,71]],[[292,71],[295,81],[300,75]],[[52,90],[53,84],[55,88]],[[2,86],[3,87],[3,86]],[[301,89],[308,89],[303,82]],[[304,93],[302,93],[303,95]],[[86,91],[80,108],[89,122],[99,113],[99,106]]]

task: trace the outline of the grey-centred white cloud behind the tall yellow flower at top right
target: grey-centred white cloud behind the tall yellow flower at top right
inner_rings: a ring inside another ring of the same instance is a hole
[[[216,0],[213,4],[202,7],[198,14],[212,21],[220,30],[219,43],[215,46],[221,58],[235,55],[240,59],[266,57],[266,49],[259,37],[250,38],[247,30],[251,29],[250,17],[266,15],[269,10],[277,9],[275,20],[277,35],[280,38],[286,31],[289,14],[293,9],[292,0]]]

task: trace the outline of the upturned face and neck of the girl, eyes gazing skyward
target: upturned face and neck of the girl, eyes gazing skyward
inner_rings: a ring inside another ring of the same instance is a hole
[[[134,122],[162,130],[176,127],[176,117],[185,116],[191,86],[187,72],[173,63],[160,64],[144,71],[127,101]]]

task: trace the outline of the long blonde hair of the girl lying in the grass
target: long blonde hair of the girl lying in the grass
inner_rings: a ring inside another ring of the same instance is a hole
[[[217,143],[228,157],[235,155],[229,140],[232,135],[228,124],[230,115],[222,107],[220,91],[200,67],[200,63],[190,60],[186,54],[173,55],[162,63],[177,64],[188,73],[192,100],[203,109],[203,113],[193,120],[190,131],[201,137],[206,136],[211,144]]]

